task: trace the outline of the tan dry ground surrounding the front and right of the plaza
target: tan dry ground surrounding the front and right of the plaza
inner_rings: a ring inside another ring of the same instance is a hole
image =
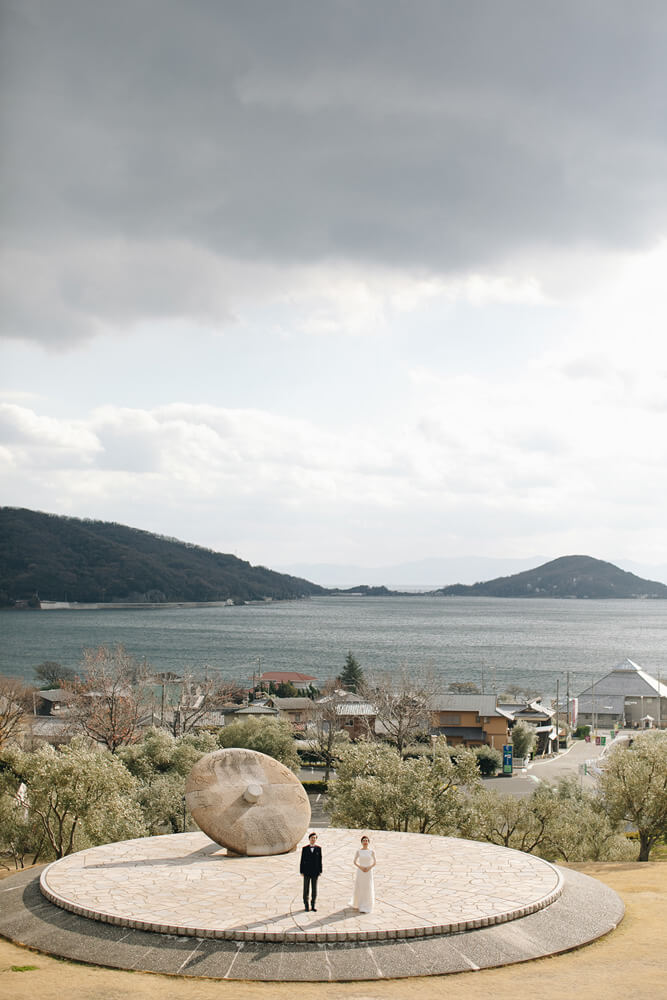
[[[573,865],[615,889],[626,914],[616,931],[554,958],[482,972],[361,983],[245,983],[76,965],[0,939],[2,1000],[516,1000],[622,997],[667,989],[667,864]]]

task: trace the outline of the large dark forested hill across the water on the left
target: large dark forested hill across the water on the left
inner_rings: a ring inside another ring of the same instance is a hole
[[[0,507],[0,603],[284,600],[308,580],[106,521]]]

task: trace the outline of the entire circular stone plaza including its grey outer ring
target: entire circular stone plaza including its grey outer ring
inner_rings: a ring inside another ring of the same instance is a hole
[[[317,910],[299,852],[228,854],[203,833],[91,848],[14,876],[0,934],[113,968],[219,979],[349,981],[528,961],[613,930],[611,889],[518,851],[369,831],[376,904],[350,906],[360,831],[320,831]]]

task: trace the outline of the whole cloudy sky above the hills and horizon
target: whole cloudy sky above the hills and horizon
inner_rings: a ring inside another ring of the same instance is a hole
[[[0,11],[3,504],[667,563],[662,0]]]

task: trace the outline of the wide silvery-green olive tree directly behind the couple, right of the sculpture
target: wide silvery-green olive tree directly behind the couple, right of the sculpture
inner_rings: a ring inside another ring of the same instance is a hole
[[[474,754],[453,760],[443,739],[432,754],[405,759],[387,744],[361,741],[340,754],[328,808],[334,826],[451,834],[466,808],[462,789],[478,782]]]

